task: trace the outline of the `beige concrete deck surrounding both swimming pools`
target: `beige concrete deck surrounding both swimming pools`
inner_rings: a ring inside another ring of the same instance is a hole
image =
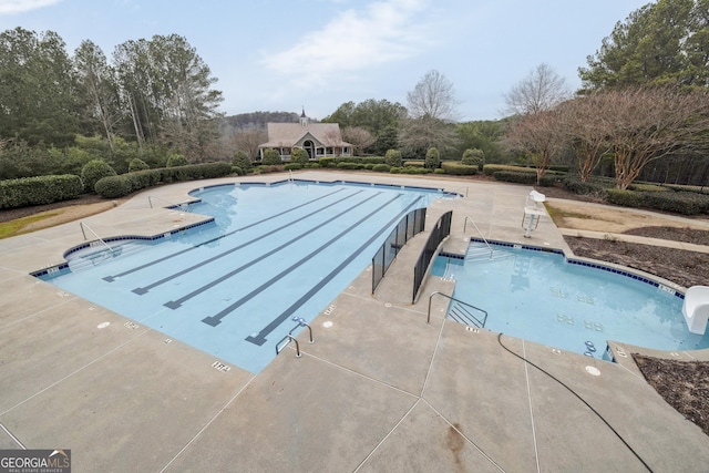
[[[453,209],[450,251],[479,236],[470,225],[463,234],[471,217],[485,238],[569,253],[546,215],[523,237],[528,186],[316,171],[296,177],[458,192],[464,198],[436,202],[427,218],[429,229]],[[202,217],[151,208],[148,196],[178,203],[207,184],[284,178],[153,188],[83,222],[104,237],[160,234]],[[442,297],[427,323],[428,295],[453,288],[428,278],[411,304],[427,236],[403,248],[373,296],[368,268],[323,308],[311,322],[315,343],[298,337],[300,358],[290,343],[257,376],[226,370],[208,353],[29,276],[84,241],[78,222],[0,240],[0,449],[71,449],[75,472],[640,472],[643,462],[655,472],[706,471],[709,436],[646,383],[629,356],[610,363],[499,340],[445,320]],[[616,353],[670,356],[610,345]],[[505,347],[578,393],[627,445]],[[674,357],[709,360],[709,350]]]

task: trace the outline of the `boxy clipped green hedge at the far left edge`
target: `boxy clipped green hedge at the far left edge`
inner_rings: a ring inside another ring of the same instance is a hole
[[[79,197],[81,177],[73,174],[0,181],[0,208],[51,204]]]

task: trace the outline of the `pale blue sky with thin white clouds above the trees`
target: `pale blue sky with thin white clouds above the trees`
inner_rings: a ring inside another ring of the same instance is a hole
[[[0,31],[54,31],[66,52],[178,34],[207,64],[227,115],[323,119],[369,99],[407,105],[435,70],[458,120],[499,120],[505,94],[546,63],[569,91],[618,21],[650,0],[0,0]]]

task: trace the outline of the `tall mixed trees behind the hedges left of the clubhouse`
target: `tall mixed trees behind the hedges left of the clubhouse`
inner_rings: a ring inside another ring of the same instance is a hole
[[[70,54],[55,32],[7,30],[0,33],[2,154],[49,153],[50,161],[62,161],[58,155],[75,146],[78,136],[96,136],[107,148],[102,157],[119,168],[124,153],[146,162],[175,153],[208,161],[222,119],[215,82],[177,34],[126,41],[109,59],[89,40]],[[64,156],[60,166],[76,158]],[[31,174],[43,172],[40,166]]]

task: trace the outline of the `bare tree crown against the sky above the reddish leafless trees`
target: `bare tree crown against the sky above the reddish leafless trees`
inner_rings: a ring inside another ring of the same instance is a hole
[[[564,78],[542,63],[505,94],[510,115],[530,115],[552,110],[569,96]]]

